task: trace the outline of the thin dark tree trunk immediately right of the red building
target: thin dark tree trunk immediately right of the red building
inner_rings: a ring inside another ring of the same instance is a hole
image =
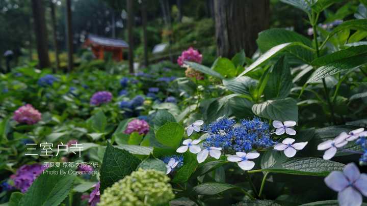
[[[127,0],[127,33],[129,41],[129,72],[134,74],[134,34],[133,34],[133,24],[134,24],[134,11],[133,11],[133,0]]]

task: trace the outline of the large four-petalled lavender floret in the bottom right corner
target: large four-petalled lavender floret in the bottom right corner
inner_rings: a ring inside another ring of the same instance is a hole
[[[347,164],[343,172],[332,171],[324,181],[338,192],[340,206],[361,205],[362,195],[367,196],[367,174],[361,174],[354,163]]]

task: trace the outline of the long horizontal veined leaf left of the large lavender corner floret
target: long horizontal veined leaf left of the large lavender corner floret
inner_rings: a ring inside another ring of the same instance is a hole
[[[327,176],[331,171],[341,171],[344,164],[324,160],[321,158],[292,158],[281,164],[281,166],[273,166],[271,168],[262,169],[263,171],[296,174],[296,175],[311,175],[311,176]]]

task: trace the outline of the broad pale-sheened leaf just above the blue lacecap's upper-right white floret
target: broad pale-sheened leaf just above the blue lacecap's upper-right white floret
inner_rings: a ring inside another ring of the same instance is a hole
[[[298,122],[298,107],[296,100],[292,98],[267,100],[263,103],[254,104],[252,111],[270,120]]]

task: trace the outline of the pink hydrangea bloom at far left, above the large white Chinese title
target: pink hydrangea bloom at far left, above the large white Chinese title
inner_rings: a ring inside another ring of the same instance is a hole
[[[41,120],[41,113],[32,105],[26,104],[14,111],[14,120],[18,123],[33,125]]]

